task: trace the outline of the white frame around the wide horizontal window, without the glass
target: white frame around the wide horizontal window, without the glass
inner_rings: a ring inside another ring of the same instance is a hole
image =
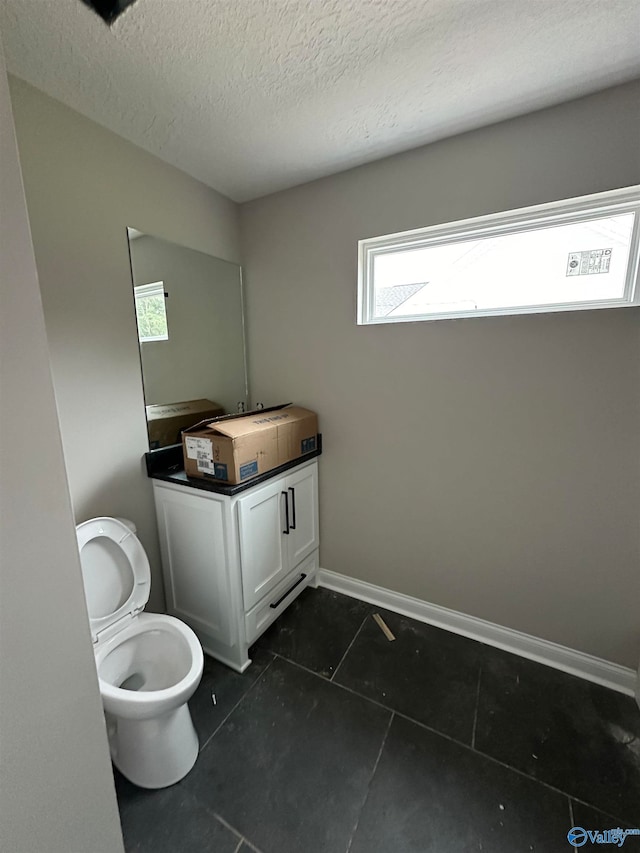
[[[373,265],[376,256],[405,249],[429,248],[463,242],[478,237],[497,237],[536,230],[552,225],[569,225],[612,216],[620,213],[636,214],[625,279],[624,295],[619,299],[583,302],[557,302],[515,308],[468,309],[446,313],[425,313],[400,316],[375,317]],[[503,213],[492,213],[472,219],[461,219],[443,225],[416,228],[398,234],[371,237],[358,241],[358,325],[380,323],[415,323],[425,320],[453,320],[464,317],[499,317],[514,314],[546,314],[557,311],[585,311],[596,308],[626,308],[640,304],[638,284],[640,255],[640,185],[609,190],[578,198],[522,207]]]

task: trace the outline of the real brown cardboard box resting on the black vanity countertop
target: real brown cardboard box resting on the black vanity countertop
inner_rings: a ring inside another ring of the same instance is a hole
[[[185,471],[237,485],[311,453],[317,434],[317,415],[300,406],[203,421],[182,434]]]

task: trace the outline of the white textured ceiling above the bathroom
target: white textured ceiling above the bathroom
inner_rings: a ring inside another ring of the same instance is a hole
[[[639,0],[2,0],[9,70],[237,201],[640,77]]]

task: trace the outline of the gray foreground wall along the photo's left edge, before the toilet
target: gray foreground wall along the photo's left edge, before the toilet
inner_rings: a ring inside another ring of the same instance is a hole
[[[0,48],[0,849],[121,853]]]

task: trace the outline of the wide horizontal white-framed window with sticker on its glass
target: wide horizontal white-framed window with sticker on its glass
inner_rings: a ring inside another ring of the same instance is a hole
[[[361,240],[358,323],[640,302],[640,187]]]

